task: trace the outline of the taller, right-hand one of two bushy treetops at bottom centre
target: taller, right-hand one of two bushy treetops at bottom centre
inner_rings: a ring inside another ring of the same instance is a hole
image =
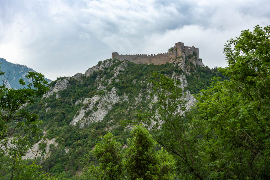
[[[125,151],[123,166],[126,178],[131,180],[173,179],[175,161],[163,148],[156,151],[156,141],[142,125],[131,131],[133,138]]]

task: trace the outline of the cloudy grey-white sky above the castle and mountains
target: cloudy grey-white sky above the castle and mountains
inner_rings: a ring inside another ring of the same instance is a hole
[[[269,0],[0,0],[0,57],[54,80],[112,52],[158,54],[180,41],[225,67],[226,40],[256,25],[270,25]]]

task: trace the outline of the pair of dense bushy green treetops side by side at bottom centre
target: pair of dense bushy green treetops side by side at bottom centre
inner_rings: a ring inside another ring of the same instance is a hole
[[[92,151],[100,162],[90,168],[78,179],[155,179],[169,180],[174,176],[175,161],[164,149],[155,150],[156,142],[146,128],[135,126],[131,131],[133,138],[122,155],[121,144],[111,133],[101,137]]]

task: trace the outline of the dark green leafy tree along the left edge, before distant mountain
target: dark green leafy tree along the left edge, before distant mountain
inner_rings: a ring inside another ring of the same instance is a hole
[[[1,70],[0,75],[4,76]],[[31,81],[26,85],[20,79],[20,89],[9,89],[5,83],[0,86],[0,179],[22,178],[19,173],[26,168],[22,157],[33,143],[44,139],[38,116],[26,111],[23,105],[33,104],[34,98],[43,95],[48,82],[41,73],[29,72],[26,77]]]

